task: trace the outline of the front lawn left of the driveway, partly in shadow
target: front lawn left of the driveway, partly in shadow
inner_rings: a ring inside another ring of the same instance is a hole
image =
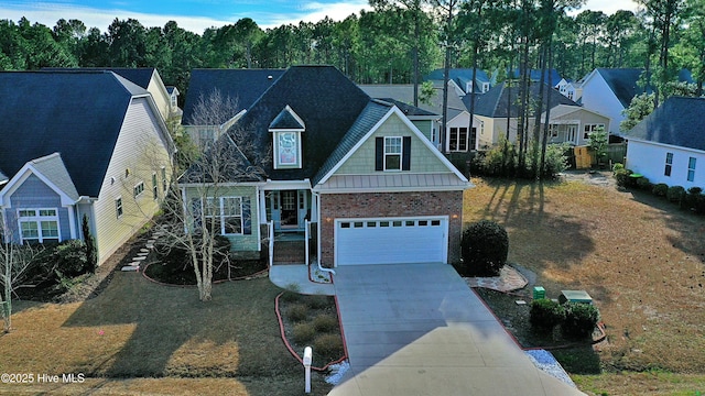
[[[0,372],[83,373],[83,384],[2,385],[0,393],[303,394],[303,367],[284,346],[269,279],[196,289],[113,275],[96,298],[19,301],[14,331],[0,337]],[[155,380],[159,378],[159,380]],[[316,395],[330,386],[315,376]]]

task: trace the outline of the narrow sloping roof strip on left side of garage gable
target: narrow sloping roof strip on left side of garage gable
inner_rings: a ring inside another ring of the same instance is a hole
[[[388,112],[392,106],[388,102],[379,100],[370,100],[365,107],[360,116],[355,120],[350,130],[347,131],[345,136],[340,140],[338,146],[333,151],[327,158],[321,170],[313,178],[312,185],[315,186],[322,178],[330,172],[336,164],[338,164],[345,155],[355,147],[355,145],[362,139],[375,124],[377,124]]]

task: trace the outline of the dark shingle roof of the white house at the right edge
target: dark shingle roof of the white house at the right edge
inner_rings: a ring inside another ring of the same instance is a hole
[[[705,98],[672,97],[630,131],[629,139],[705,151]]]

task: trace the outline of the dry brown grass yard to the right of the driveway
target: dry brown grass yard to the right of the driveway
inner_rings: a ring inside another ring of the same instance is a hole
[[[588,352],[598,375],[579,362],[566,367],[583,389],[705,392],[703,217],[642,191],[581,182],[473,182],[464,221],[503,224],[509,262],[535,273],[547,297],[584,289],[600,309],[607,340]],[[556,355],[570,363],[570,351]]]

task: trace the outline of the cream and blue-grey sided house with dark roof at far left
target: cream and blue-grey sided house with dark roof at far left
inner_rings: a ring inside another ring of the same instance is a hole
[[[159,209],[173,144],[150,92],[112,72],[0,73],[0,212],[18,243],[83,239],[98,264]]]

